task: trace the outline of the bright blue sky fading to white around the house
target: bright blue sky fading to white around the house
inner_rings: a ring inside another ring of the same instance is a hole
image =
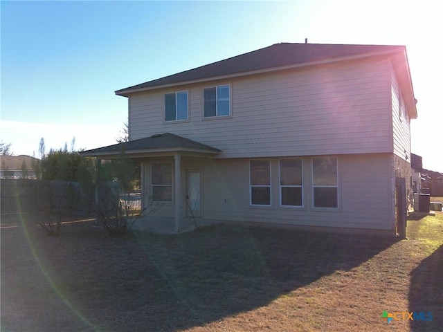
[[[278,42],[406,45],[413,153],[443,172],[440,1],[1,1],[0,139],[15,155],[111,145],[114,91]],[[440,145],[439,148],[436,146]]]

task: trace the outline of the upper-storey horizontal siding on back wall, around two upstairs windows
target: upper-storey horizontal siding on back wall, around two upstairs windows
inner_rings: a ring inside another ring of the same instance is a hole
[[[392,153],[389,62],[372,59],[207,82],[129,97],[131,139],[171,132],[217,158]],[[231,115],[204,118],[203,89],[230,84]],[[189,91],[189,121],[163,120],[163,95]]]

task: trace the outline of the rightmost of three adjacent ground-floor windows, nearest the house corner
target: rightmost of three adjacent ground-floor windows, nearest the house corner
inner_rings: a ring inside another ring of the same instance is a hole
[[[312,158],[314,208],[338,208],[337,157]]]

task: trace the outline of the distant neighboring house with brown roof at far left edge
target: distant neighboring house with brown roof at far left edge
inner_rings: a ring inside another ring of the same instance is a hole
[[[33,178],[39,159],[30,156],[0,156],[0,178]]]

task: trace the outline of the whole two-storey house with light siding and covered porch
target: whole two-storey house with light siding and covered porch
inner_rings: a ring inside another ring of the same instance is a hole
[[[143,204],[176,231],[199,216],[399,232],[417,118],[405,46],[275,44],[116,94],[129,142],[82,154],[141,161]]]

